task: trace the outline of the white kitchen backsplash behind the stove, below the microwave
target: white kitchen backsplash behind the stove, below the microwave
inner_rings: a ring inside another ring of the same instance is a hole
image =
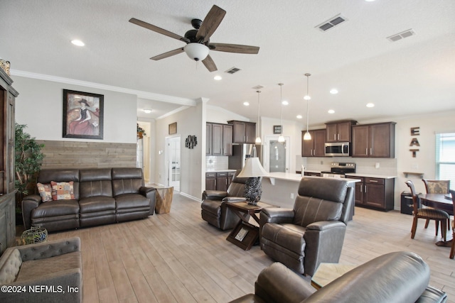
[[[301,158],[301,157],[299,157]],[[356,173],[365,173],[372,175],[397,175],[397,159],[395,158],[350,158],[350,157],[332,157],[332,158],[301,158],[296,162],[296,170],[301,170],[300,165],[304,165],[305,170],[330,170],[332,162],[353,162],[355,163]]]

